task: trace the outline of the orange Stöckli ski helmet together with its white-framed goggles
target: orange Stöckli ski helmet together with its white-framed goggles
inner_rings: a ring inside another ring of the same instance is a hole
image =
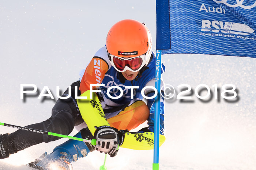
[[[106,38],[106,48],[109,60],[117,71],[130,70],[135,72],[139,71],[143,66],[147,66],[150,60],[152,37],[143,23],[125,19],[110,28]],[[137,59],[134,64],[131,61],[135,58],[140,59]],[[114,63],[117,60],[119,62],[123,61],[123,63]],[[140,65],[138,65],[138,62],[141,62],[139,63]]]

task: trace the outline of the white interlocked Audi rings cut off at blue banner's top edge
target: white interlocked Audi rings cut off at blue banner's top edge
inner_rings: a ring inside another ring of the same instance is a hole
[[[225,5],[227,5],[228,7],[231,7],[231,8],[236,8],[236,7],[241,7],[241,8],[244,8],[244,9],[252,9],[256,6],[256,1],[254,4],[252,5],[248,5],[250,4],[250,2],[252,0],[213,0],[215,3],[223,3]],[[245,1],[245,2],[244,2]],[[245,4],[245,5],[243,5]],[[247,4],[247,5],[246,5]]]

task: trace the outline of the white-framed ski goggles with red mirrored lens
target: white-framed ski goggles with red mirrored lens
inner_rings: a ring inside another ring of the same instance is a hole
[[[146,64],[146,54],[133,58],[117,57],[111,54],[109,56],[111,57],[110,63],[119,72],[125,72],[126,70],[137,72]]]

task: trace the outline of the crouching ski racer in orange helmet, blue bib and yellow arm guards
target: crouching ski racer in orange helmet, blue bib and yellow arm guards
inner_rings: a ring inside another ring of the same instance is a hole
[[[56,162],[59,167],[69,170],[72,169],[72,162],[94,150],[114,157],[119,146],[136,150],[153,149],[155,99],[152,96],[155,92],[152,88],[144,90],[144,95],[151,97],[146,103],[141,92],[143,87],[154,87],[155,61],[151,34],[144,23],[126,19],[114,24],[106,37],[106,45],[80,72],[79,81],[72,83],[71,90],[67,89],[62,95],[71,96],[57,100],[49,119],[26,126],[64,135],[70,134],[76,127],[79,133],[75,137],[96,139],[97,145],[69,139],[55,147],[51,154],[45,153],[29,165],[36,169],[50,169],[50,163]],[[165,71],[163,64],[161,71]],[[99,91],[91,92],[90,86]],[[93,96],[90,97],[90,94]],[[77,95],[87,99],[75,99]],[[160,100],[161,145],[165,137],[164,101],[162,97]],[[148,127],[130,132],[146,120]],[[24,130],[0,135],[0,159],[57,139],[60,138]]]

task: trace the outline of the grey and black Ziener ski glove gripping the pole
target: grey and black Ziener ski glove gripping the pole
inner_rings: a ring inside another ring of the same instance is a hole
[[[109,154],[110,157],[117,155],[119,146],[124,142],[126,130],[117,130],[110,126],[95,126],[94,137],[97,140],[96,150]]]

